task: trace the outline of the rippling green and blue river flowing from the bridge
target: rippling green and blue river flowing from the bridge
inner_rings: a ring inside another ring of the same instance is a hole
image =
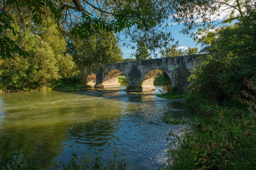
[[[41,168],[70,161],[74,152],[101,153],[109,162],[113,152],[127,169],[158,169],[167,162],[171,130],[186,125],[163,123],[163,117],[192,118],[181,99],[159,98],[156,91],[127,94],[109,91],[35,91],[0,95],[0,132],[24,132],[35,141]],[[124,88],[123,88],[124,89]]]

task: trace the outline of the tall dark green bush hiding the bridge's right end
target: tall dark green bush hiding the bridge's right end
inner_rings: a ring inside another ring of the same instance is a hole
[[[252,79],[256,72],[254,21],[255,11],[251,11],[234,26],[218,30],[208,47],[211,55],[191,77],[188,103],[233,103],[233,95],[246,89],[243,79]]]

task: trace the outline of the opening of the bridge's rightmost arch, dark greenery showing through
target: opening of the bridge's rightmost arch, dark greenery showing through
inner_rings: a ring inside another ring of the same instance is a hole
[[[143,91],[151,91],[155,89],[155,86],[168,86],[171,87],[171,79],[161,69],[152,69],[147,72],[142,80]]]

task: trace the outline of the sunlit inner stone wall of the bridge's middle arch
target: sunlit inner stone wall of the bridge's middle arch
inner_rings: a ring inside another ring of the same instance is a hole
[[[103,78],[102,86],[104,86],[104,88],[119,87],[120,86],[120,84],[118,83],[119,74],[122,74],[122,72],[120,72],[118,69],[112,69],[110,72],[107,72],[107,74],[105,74],[105,77]]]

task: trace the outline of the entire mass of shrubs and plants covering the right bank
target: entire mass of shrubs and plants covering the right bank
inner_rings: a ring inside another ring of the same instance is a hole
[[[256,168],[255,10],[201,42],[210,52],[191,77],[186,103],[198,108],[198,124],[184,137],[172,135],[165,169]]]

